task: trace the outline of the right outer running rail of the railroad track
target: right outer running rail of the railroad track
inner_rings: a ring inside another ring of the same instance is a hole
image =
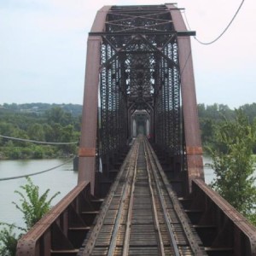
[[[170,218],[168,216],[168,212],[166,210],[166,203],[165,203],[165,199],[164,199],[164,196],[162,195],[161,193],[161,189],[160,189],[160,182],[158,180],[158,177],[157,177],[157,174],[155,172],[156,171],[156,168],[154,168],[154,164],[152,162],[153,158],[151,157],[152,154],[151,154],[151,150],[150,148],[148,148],[148,143],[145,142],[145,139],[143,141],[143,144],[145,145],[145,153],[146,153],[146,160],[148,160],[148,172],[149,170],[151,171],[151,173],[153,174],[154,176],[154,181],[155,181],[155,185],[156,185],[156,189],[157,189],[157,194],[159,196],[159,199],[160,199],[160,205],[161,205],[161,208],[163,210],[163,213],[164,213],[164,216],[165,216],[165,221],[166,221],[166,225],[167,225],[167,228],[168,228],[168,232],[169,232],[169,235],[171,237],[171,241],[172,241],[172,247],[173,247],[173,250],[174,250],[174,255],[176,256],[179,256],[180,253],[178,251],[178,247],[177,247],[177,241],[175,239],[175,236],[174,236],[174,233],[172,231],[172,225],[170,223]],[[148,173],[148,176],[149,176],[149,173]],[[155,206],[154,206],[155,207]],[[162,254],[164,255],[164,254]]]

